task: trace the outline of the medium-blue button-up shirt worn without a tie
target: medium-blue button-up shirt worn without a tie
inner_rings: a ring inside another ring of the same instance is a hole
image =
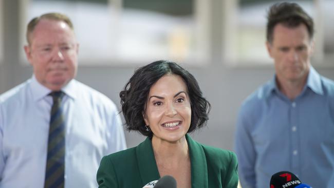
[[[235,151],[243,188],[269,187],[280,171],[315,188],[333,188],[334,82],[311,67],[303,91],[291,101],[274,77],[243,103]]]

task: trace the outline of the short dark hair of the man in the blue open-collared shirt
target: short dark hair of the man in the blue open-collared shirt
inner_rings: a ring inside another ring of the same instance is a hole
[[[300,24],[305,24],[312,39],[314,26],[312,18],[296,3],[276,3],[268,11],[267,22],[267,41],[272,42],[273,30],[277,24],[283,24],[286,27],[294,28]]]

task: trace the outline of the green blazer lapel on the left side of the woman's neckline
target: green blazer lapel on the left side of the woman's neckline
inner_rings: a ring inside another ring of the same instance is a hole
[[[143,185],[160,178],[150,138],[137,146],[136,157]]]

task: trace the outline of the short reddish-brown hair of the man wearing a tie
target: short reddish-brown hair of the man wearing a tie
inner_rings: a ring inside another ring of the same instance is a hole
[[[73,24],[70,20],[70,18],[62,13],[58,13],[58,12],[50,12],[50,13],[45,13],[42,14],[41,16],[38,17],[34,17],[32,18],[32,20],[28,23],[27,26],[27,32],[26,32],[26,39],[28,44],[31,44],[30,41],[30,35],[33,32],[33,30],[35,29],[36,25],[42,20],[42,19],[46,19],[46,20],[54,20],[54,21],[63,21],[65,22],[72,30],[74,30],[73,28]]]

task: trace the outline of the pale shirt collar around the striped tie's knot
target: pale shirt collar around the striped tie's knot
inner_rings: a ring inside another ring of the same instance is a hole
[[[72,79],[65,87],[62,88],[62,91],[70,98],[76,99],[76,80]],[[51,90],[38,82],[33,74],[31,78],[31,92],[33,100],[39,101],[49,95]]]

